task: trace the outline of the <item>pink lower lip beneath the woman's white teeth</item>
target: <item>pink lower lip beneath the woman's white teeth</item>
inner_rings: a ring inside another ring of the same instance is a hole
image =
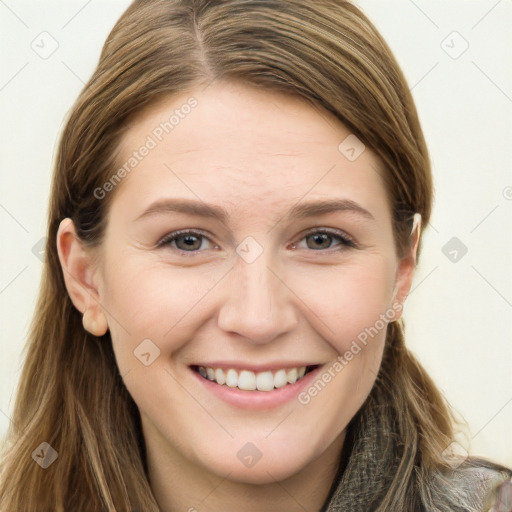
[[[194,370],[190,371],[208,391],[230,405],[240,409],[272,409],[297,398],[298,394],[315,380],[321,368],[321,366],[315,368],[294,384],[274,388],[273,391],[244,391],[230,388],[205,379]]]

